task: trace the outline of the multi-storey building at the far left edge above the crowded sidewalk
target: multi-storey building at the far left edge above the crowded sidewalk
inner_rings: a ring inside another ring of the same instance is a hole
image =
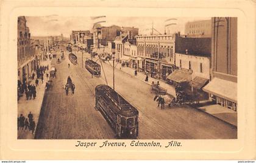
[[[18,17],[18,80],[22,83],[29,81],[32,72],[37,68],[34,47],[30,44],[29,27],[26,26],[25,16]]]

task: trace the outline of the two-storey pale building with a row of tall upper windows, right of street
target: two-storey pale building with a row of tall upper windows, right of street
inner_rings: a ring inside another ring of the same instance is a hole
[[[166,78],[175,69],[175,37],[173,35],[137,36],[139,69],[152,77]],[[159,74],[160,72],[160,74]]]

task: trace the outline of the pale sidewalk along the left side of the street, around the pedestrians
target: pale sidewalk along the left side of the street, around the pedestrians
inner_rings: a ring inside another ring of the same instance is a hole
[[[50,66],[51,61],[49,61],[49,60],[41,61],[40,66],[46,66],[47,64],[49,64],[49,68],[51,68],[51,66]],[[49,74],[49,71],[46,71],[46,73]],[[30,82],[30,85],[35,85],[35,79]],[[46,78],[46,75],[44,75],[43,83],[41,83],[41,80],[39,80],[39,84],[36,87],[37,97],[35,97],[34,100],[33,99],[27,100],[25,93],[18,100],[18,117],[20,117],[20,114],[23,114],[23,116],[25,118],[27,118],[27,115],[31,111],[31,113],[34,116],[33,119],[34,119],[35,124],[36,124],[35,128],[37,128],[37,122],[38,122],[38,118],[39,118],[39,115],[40,115],[41,104],[43,102],[45,85],[46,85],[47,81],[48,81],[48,78]],[[28,129],[27,130],[21,130],[21,128],[20,128],[18,130],[18,139],[34,139],[34,135]]]

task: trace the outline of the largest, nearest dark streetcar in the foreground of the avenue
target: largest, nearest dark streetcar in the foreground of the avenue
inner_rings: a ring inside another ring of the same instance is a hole
[[[138,136],[138,110],[110,86],[95,88],[96,110],[100,111],[118,138],[135,139]]]

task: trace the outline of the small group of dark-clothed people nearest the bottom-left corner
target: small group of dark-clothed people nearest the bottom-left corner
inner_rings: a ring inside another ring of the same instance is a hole
[[[28,119],[28,120],[27,120]],[[35,132],[35,121],[33,119],[33,114],[29,112],[27,118],[23,114],[18,117],[18,130],[29,130],[34,134]]]

